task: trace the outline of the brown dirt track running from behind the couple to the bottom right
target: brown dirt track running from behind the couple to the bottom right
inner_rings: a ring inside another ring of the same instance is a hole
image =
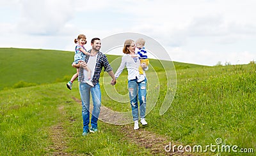
[[[77,103],[81,104],[81,100],[76,97],[72,97]],[[92,108],[92,107],[90,107]],[[100,117],[104,120],[109,120],[109,117],[113,120],[113,115],[109,115],[109,110],[105,107],[100,109]],[[118,120],[116,120],[118,122]],[[142,146],[144,148],[150,149],[152,155],[189,155],[188,153],[178,152],[177,149],[175,152],[166,152],[164,149],[166,145],[170,145],[172,142],[170,139],[165,138],[164,136],[159,136],[154,132],[146,131],[143,127],[134,131],[133,125],[120,125],[120,132],[123,132],[125,138],[131,143],[136,143],[136,145]],[[178,143],[173,143],[172,145],[180,145]],[[167,148],[168,149],[168,148]]]

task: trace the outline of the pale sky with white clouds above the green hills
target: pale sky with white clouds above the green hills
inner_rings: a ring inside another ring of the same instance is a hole
[[[0,47],[73,51],[81,33],[90,41],[136,32],[175,61],[248,64],[256,60],[255,7],[254,0],[1,1]]]

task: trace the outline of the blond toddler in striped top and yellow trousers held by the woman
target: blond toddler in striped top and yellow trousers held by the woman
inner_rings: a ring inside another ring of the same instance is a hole
[[[145,43],[146,41],[143,38],[139,38],[137,39],[136,43],[136,48],[138,48],[138,57],[140,59],[140,64],[143,64],[143,67],[147,67],[149,64],[149,60],[147,57],[147,51],[145,50]],[[140,71],[140,78],[138,78],[137,82],[143,82],[143,80],[145,80],[145,76],[144,76],[144,70],[143,67],[139,67],[139,71]]]

